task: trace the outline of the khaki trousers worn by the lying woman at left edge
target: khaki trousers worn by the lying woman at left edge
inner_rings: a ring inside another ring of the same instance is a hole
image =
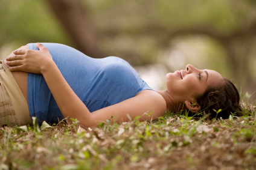
[[[32,124],[28,104],[11,71],[0,61],[0,126]]]

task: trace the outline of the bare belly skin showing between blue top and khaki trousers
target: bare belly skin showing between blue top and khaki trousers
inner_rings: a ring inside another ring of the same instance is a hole
[[[19,49],[28,49],[28,46],[22,46]],[[10,55],[13,54],[11,53]],[[8,68],[10,67],[6,64],[6,60],[4,60],[4,65],[6,65]],[[13,74],[14,79],[16,80],[23,96],[25,97],[28,103],[28,73],[23,71],[11,71],[11,73]]]

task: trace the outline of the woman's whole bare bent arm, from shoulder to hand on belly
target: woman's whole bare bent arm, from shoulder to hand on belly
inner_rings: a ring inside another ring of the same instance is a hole
[[[59,68],[53,61],[50,52],[43,44],[37,43],[39,51],[26,50],[15,51],[15,56],[7,59],[7,64],[13,67],[11,71],[27,71],[31,73],[41,73],[59,106],[60,111],[66,118],[77,118],[80,124],[86,127],[97,126],[99,122],[111,119],[114,116],[116,121],[126,121],[127,114],[134,118],[143,115],[144,112],[154,112],[150,117],[144,115],[142,119],[155,119],[165,112],[165,100],[154,91],[146,90],[138,93],[135,97],[125,100],[117,105],[100,109],[95,112],[89,112],[85,104],[78,98],[74,91],[60,73]],[[22,55],[20,55],[22,54]],[[17,65],[17,66],[14,66]]]

